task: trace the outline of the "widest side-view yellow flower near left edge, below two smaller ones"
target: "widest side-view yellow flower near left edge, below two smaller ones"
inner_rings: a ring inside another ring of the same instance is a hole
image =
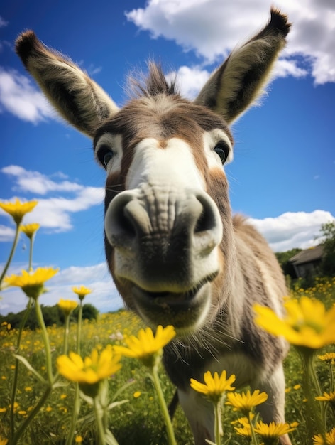
[[[57,274],[59,269],[53,269],[52,267],[38,267],[35,272],[22,271],[22,275],[12,275],[11,277],[6,277],[5,282],[9,286],[21,287],[23,292],[37,299],[40,294],[45,292],[44,283]]]

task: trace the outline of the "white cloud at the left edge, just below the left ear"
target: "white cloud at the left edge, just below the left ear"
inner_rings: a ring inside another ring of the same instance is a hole
[[[0,67],[0,112],[4,110],[33,124],[56,119],[50,104],[28,77]]]

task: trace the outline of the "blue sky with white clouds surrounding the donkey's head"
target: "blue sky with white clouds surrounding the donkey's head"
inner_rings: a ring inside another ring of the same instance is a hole
[[[101,311],[122,301],[104,264],[104,171],[92,144],[57,118],[21,65],[13,42],[31,28],[87,70],[121,107],[126,76],[160,60],[194,98],[211,71],[263,26],[270,5],[293,22],[288,45],[260,107],[234,124],[234,162],[226,166],[231,205],[253,220],[275,251],[315,244],[335,215],[335,4],[306,0],[11,1],[0,10],[0,200],[38,199],[24,223],[38,222],[34,267],[60,267],[43,304],[93,289]],[[13,223],[0,212],[0,266]],[[10,272],[27,267],[21,235]],[[1,292],[0,313],[26,304]]]

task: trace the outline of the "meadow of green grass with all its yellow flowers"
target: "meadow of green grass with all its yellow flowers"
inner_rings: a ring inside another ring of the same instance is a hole
[[[41,311],[44,284],[57,269],[32,269],[38,224],[21,225],[36,205],[1,204],[13,216],[16,235],[0,286],[18,286],[35,312],[39,329],[0,326],[0,445],[191,445],[190,428],[180,407],[171,422],[166,402],[175,388],[160,360],[175,336],[172,326],[145,328],[133,313],[101,314],[82,321],[82,304],[90,289],[72,288],[76,299],[58,306],[64,326],[46,327]],[[28,271],[6,277],[19,232],[30,240]],[[290,434],[297,445],[335,444],[335,278],[319,278],[311,289],[295,289],[285,300],[286,315],[254,305],[255,323],[293,347],[285,360],[286,422],[264,424],[256,414],[268,395],[259,390],[234,392],[234,375],[205,372],[192,390],[212,402],[215,444],[276,445]],[[70,314],[79,308],[76,323]],[[222,408],[224,409],[222,410]],[[224,435],[221,434],[223,425]]]

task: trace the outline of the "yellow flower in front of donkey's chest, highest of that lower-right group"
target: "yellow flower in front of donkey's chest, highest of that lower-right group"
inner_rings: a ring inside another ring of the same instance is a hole
[[[232,374],[227,380],[226,371],[222,371],[219,377],[217,372],[214,372],[214,377],[210,371],[204,373],[204,383],[200,383],[195,379],[191,379],[191,387],[197,392],[206,395],[212,402],[219,402],[225,391],[234,391],[235,387],[231,383],[235,382],[235,375]]]

